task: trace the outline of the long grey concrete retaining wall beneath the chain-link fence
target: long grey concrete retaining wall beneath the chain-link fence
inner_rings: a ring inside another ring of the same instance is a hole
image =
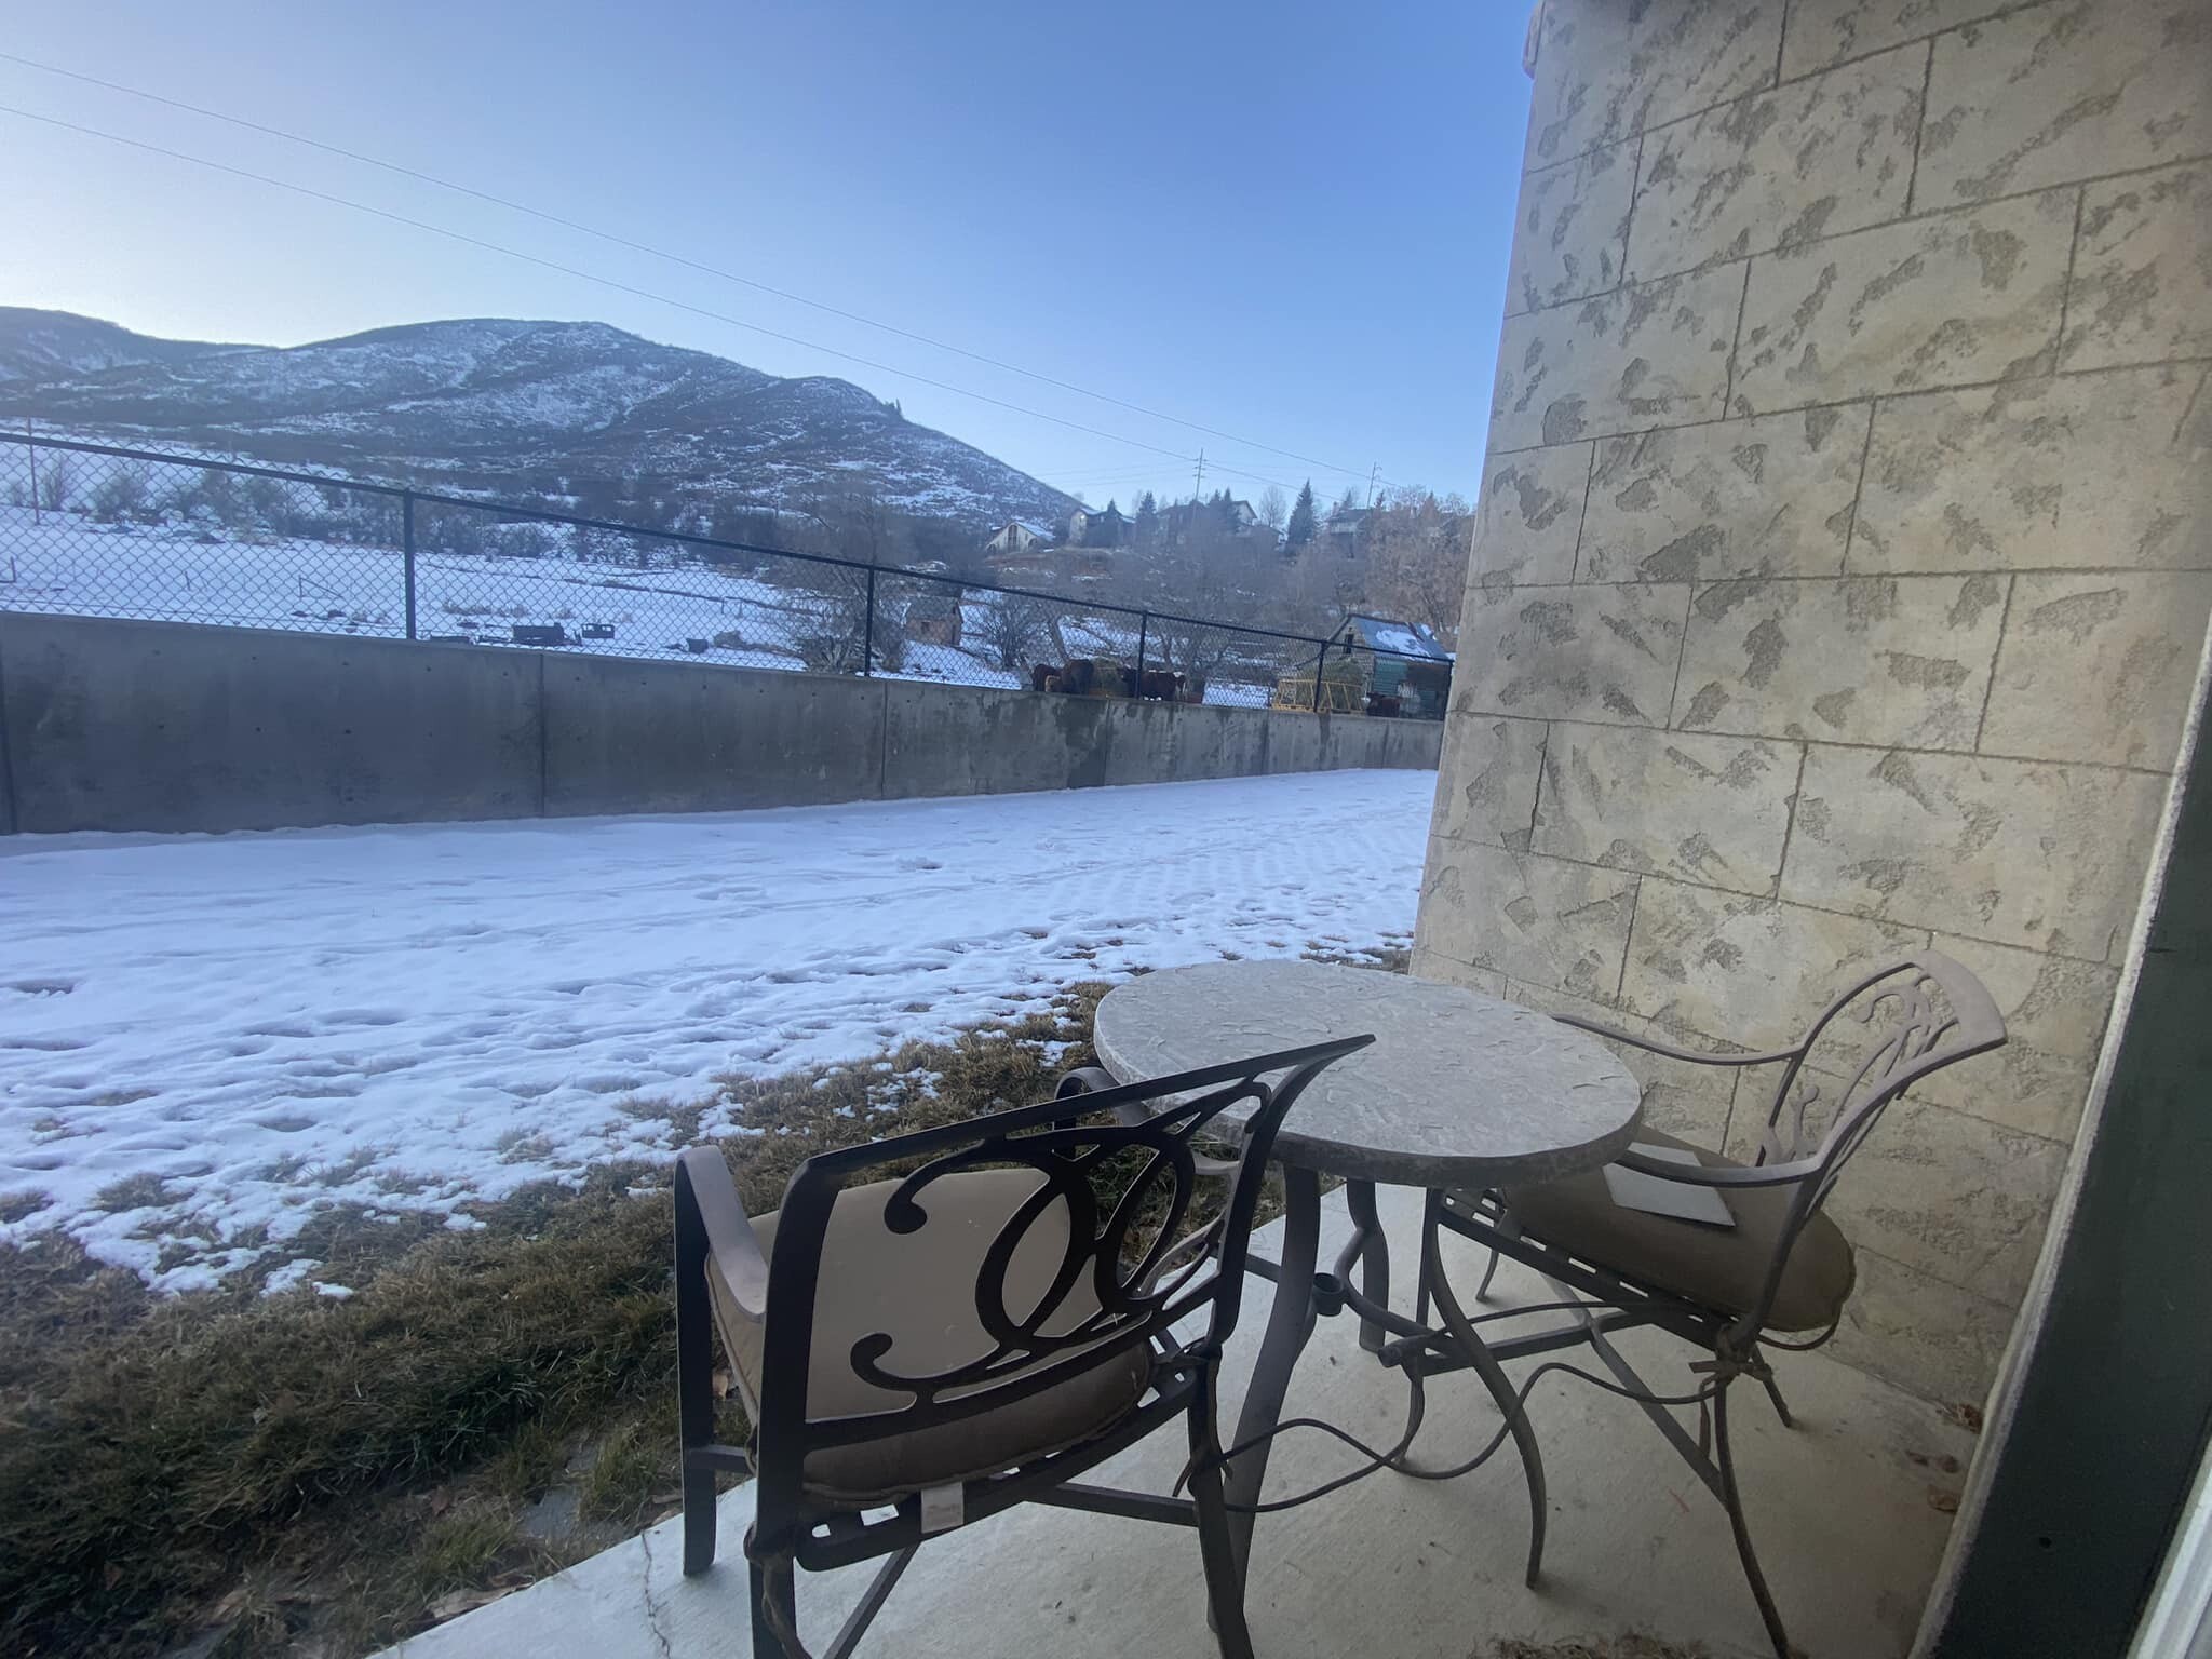
[[[1433,768],[1431,721],[0,613],[0,834]]]

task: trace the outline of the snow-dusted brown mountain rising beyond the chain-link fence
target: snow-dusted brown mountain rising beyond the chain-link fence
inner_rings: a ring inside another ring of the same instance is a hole
[[[779,378],[604,323],[411,323],[314,345],[199,345],[0,307],[0,418],[487,493],[646,478],[805,507],[874,487],[973,526],[1060,522],[1048,484],[827,376]]]

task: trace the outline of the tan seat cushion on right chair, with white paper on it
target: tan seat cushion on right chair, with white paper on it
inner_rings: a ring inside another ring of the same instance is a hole
[[[1697,1152],[1708,1170],[1741,1168],[1672,1135],[1639,1133],[1650,1146]],[[1613,1201],[1601,1170],[1548,1186],[1506,1188],[1506,1210],[1535,1239],[1557,1245],[1621,1279],[1688,1296],[1723,1314],[1745,1314],[1767,1281],[1794,1186],[1717,1188],[1734,1228],[1628,1210]],[[1767,1327],[1825,1329],[1843,1312],[1856,1276],[1851,1245],[1825,1214],[1805,1223],[1783,1267]]]

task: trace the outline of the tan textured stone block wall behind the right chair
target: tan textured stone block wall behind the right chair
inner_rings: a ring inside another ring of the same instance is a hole
[[[1418,973],[1692,1042],[1931,945],[2011,1046],[1834,1199],[1978,1400],[2212,611],[2212,7],[1546,0]],[[1639,1064],[1747,1155],[1761,1079]]]

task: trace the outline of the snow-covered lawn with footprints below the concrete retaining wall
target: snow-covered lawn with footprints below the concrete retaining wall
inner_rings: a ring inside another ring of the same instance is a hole
[[[0,841],[0,1239],[60,1225],[201,1285],[319,1203],[467,1225],[471,1199],[664,1157],[668,1108],[719,1075],[1144,967],[1405,945],[1433,787]]]

